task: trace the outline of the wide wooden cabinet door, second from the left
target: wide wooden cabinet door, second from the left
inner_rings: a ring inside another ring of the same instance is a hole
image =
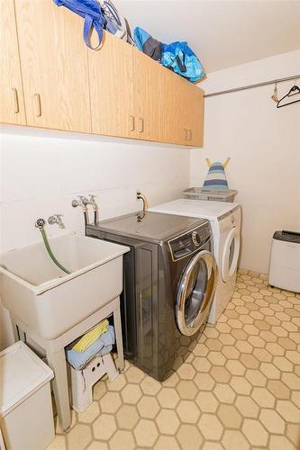
[[[14,0],[27,123],[90,132],[82,19],[50,0]]]

